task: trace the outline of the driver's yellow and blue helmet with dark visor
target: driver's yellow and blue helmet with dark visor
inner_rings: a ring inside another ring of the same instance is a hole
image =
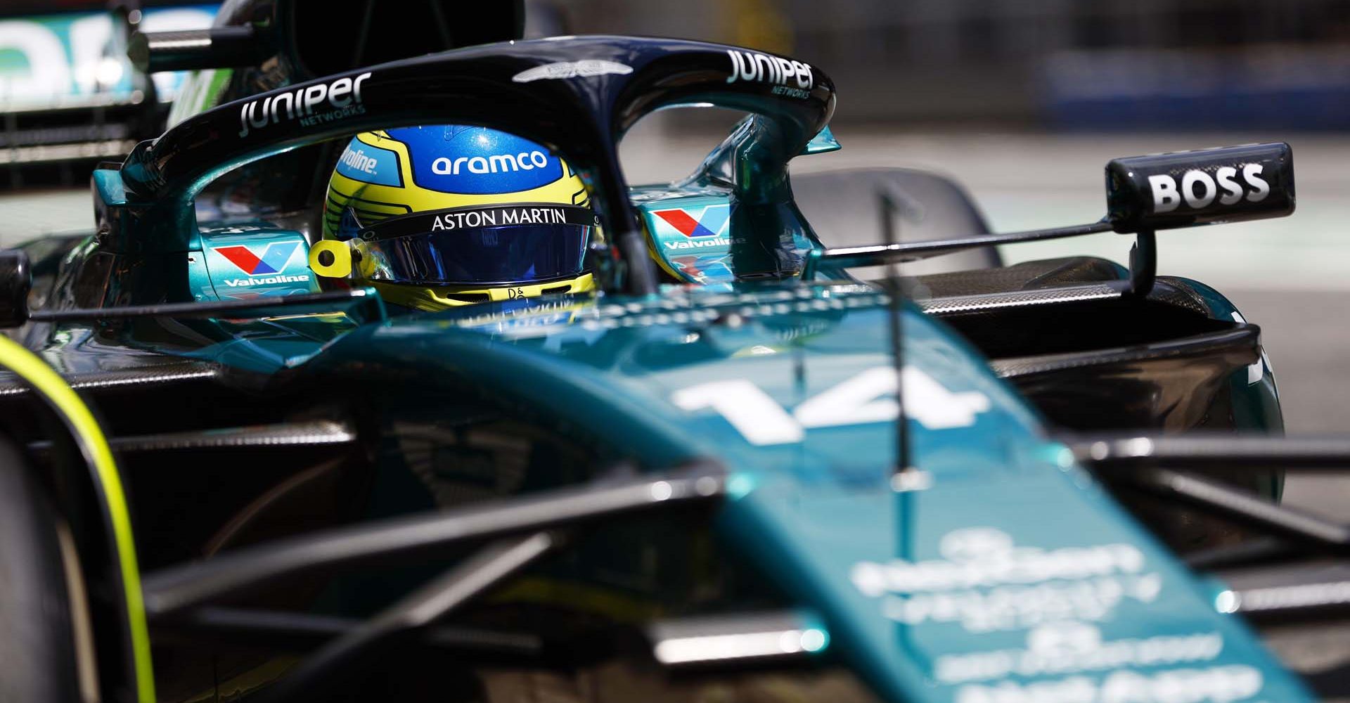
[[[591,290],[595,236],[580,178],[543,146],[485,127],[408,127],[347,144],[309,266],[439,310]]]

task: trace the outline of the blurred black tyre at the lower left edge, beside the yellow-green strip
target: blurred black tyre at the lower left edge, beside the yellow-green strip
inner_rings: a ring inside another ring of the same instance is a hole
[[[0,440],[0,703],[80,700],[57,515],[8,440]]]

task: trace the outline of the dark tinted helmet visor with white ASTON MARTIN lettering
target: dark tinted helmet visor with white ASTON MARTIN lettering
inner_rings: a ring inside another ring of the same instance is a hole
[[[595,213],[575,205],[451,208],[364,227],[356,247],[374,281],[531,283],[580,275],[594,228]]]

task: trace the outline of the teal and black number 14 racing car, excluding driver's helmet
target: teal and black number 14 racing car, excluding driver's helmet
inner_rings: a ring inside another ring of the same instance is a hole
[[[786,167],[837,146],[834,103],[740,47],[495,43],[248,94],[94,171],[93,233],[0,259],[0,700],[1334,694],[1250,623],[1345,606],[1347,528],[1274,499],[1350,444],[1277,437],[1258,328],[1154,275],[1158,229],[1289,215],[1288,146],[1112,161],[1099,223],[829,248]],[[629,188],[622,132],[690,104],[751,116]],[[313,287],[313,213],[232,209],[277,197],[267,157],[444,123],[583,174],[602,294],[392,316]],[[1129,269],[849,274],[1106,231]]]

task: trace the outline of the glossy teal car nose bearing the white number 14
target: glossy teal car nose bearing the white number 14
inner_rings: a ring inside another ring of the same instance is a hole
[[[837,283],[497,304],[339,325],[273,371],[333,383],[359,368],[389,418],[412,397],[458,398],[648,471],[721,463],[734,498],[717,534],[815,614],[817,656],[890,700],[1311,700],[1224,613],[1222,587],[914,308],[906,399],[923,480],[896,490],[887,304]],[[262,370],[274,343],[217,359]],[[832,393],[834,416],[813,416]]]

